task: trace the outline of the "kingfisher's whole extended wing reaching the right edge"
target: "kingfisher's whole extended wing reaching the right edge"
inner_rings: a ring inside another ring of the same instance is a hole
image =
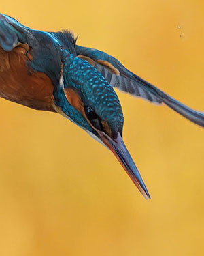
[[[171,109],[180,113],[180,115],[204,127],[204,113],[195,111],[165,94],[165,92],[126,69],[116,58],[92,48],[78,45],[75,48],[78,57],[88,61],[92,66],[97,68],[113,87],[134,96],[144,98],[149,102],[157,104],[165,103]]]

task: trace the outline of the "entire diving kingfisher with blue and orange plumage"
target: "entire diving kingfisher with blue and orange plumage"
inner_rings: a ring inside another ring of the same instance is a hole
[[[164,103],[204,126],[204,113],[173,99],[107,53],[77,45],[70,31],[33,30],[0,14],[0,96],[60,113],[80,126],[114,153],[141,194],[150,198],[122,140],[124,117],[114,88]]]

